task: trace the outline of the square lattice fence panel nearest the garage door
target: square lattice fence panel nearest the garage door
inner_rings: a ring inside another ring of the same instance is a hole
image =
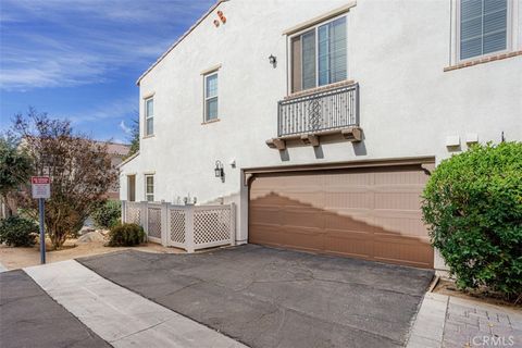
[[[231,239],[232,219],[229,209],[194,211],[194,243],[211,244]]]

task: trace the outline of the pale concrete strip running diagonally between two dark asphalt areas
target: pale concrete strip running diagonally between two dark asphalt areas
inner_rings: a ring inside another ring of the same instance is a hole
[[[24,271],[113,347],[245,347],[102,278],[76,261]]]

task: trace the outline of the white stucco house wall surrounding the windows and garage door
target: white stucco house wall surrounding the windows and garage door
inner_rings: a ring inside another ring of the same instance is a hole
[[[520,2],[515,47],[522,50]],[[268,148],[265,140],[277,135],[277,101],[287,95],[283,32],[346,3],[223,2],[217,10],[225,25],[213,25],[214,11],[141,79],[140,98],[154,96],[156,135],[141,139],[140,154],[122,167],[121,198],[126,175],[136,174],[136,197],[144,200],[146,173],[156,175],[156,200],[175,202],[188,192],[198,202],[224,197],[239,204],[237,238],[246,240],[241,169],[426,156],[439,162],[451,154],[448,136],[461,137],[461,150],[467,134],[481,142],[498,142],[502,132],[508,140],[522,139],[521,55],[444,72],[452,62],[450,0],[359,0],[348,13],[348,78],[360,84],[364,141],[323,144],[320,151]],[[202,125],[200,73],[216,64],[221,121]],[[215,160],[225,165],[225,183],[214,177]]]

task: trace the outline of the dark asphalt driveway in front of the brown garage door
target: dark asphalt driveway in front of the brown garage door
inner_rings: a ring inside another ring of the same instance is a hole
[[[78,260],[250,347],[402,347],[433,271],[247,245]]]

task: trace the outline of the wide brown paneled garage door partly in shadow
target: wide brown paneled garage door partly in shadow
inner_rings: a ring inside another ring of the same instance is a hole
[[[433,268],[420,165],[257,174],[249,241]]]

